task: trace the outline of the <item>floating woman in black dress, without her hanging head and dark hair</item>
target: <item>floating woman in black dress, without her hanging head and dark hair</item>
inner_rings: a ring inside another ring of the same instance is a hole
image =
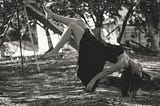
[[[100,28],[91,30],[82,19],[67,18],[53,13],[44,6],[43,8],[53,20],[68,26],[56,47],[43,57],[55,56],[60,48],[73,37],[79,52],[77,76],[87,91],[94,91],[99,80],[106,75],[132,65],[133,61],[129,59],[121,46],[102,43],[95,38]],[[107,71],[103,70],[105,61],[114,63]]]

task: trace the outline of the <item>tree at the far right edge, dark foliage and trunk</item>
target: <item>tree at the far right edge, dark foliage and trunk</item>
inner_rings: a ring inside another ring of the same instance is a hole
[[[146,34],[150,37],[151,50],[160,51],[160,1],[142,0],[139,9],[145,18]]]

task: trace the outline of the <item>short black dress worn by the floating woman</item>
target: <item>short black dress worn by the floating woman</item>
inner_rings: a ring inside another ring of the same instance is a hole
[[[117,57],[123,52],[121,46],[103,44],[90,33],[89,29],[85,29],[79,47],[77,76],[87,86],[90,80],[103,70],[105,61],[116,63]],[[98,81],[95,87],[97,84]]]

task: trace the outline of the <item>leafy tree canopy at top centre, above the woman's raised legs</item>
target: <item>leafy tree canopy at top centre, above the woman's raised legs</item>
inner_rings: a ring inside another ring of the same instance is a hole
[[[123,6],[132,4],[132,0],[54,0],[50,4],[53,12],[70,15],[81,16],[85,20],[85,13],[93,19],[95,27],[102,27],[104,22],[104,14],[114,21],[118,21],[120,14],[118,13]],[[87,21],[86,21],[87,22]],[[97,39],[101,40],[100,33]]]

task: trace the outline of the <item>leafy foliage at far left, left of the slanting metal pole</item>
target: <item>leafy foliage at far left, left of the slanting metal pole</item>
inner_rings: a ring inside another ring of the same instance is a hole
[[[23,0],[1,0],[0,3],[0,16],[3,20],[0,26],[1,34],[4,33],[6,26],[9,26],[6,33],[9,37],[7,41],[18,41],[20,38],[30,41]]]

